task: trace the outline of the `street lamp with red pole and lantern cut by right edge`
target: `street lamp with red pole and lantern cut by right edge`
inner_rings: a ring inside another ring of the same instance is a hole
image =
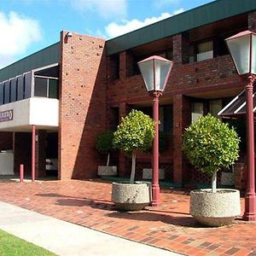
[[[245,198],[245,220],[256,220],[256,195],[254,173],[254,125],[253,125],[253,83],[256,80],[256,34],[240,32],[225,39],[239,75],[247,76],[247,195]]]

